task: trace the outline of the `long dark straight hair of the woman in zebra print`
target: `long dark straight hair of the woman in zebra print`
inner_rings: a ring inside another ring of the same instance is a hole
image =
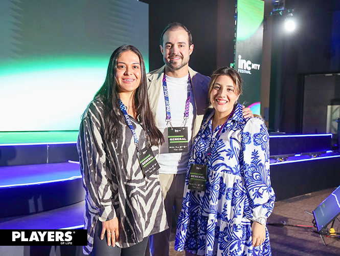
[[[157,129],[155,124],[148,98],[148,89],[146,81],[145,63],[141,52],[134,46],[123,45],[118,47],[110,57],[108,63],[105,81],[102,87],[95,95],[96,98],[102,98],[104,103],[104,139],[112,141],[119,136],[119,122],[125,122],[124,115],[120,109],[120,97],[118,84],[116,81],[116,70],[118,58],[123,52],[131,51],[139,57],[141,63],[141,83],[134,94],[134,106],[137,118],[141,122],[143,129],[149,137],[152,146],[160,145],[164,142],[163,134]]]

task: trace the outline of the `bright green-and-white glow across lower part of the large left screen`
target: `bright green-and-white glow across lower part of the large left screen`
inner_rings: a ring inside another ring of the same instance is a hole
[[[0,131],[78,130],[108,61],[69,56],[0,65]]]

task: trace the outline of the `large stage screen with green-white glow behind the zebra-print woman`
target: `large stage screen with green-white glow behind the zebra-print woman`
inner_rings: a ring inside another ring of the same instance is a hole
[[[129,44],[148,71],[148,5],[135,0],[2,0],[0,131],[78,130],[109,57]]]

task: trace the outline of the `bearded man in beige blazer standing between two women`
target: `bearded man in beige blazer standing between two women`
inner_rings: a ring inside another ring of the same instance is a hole
[[[168,256],[172,213],[174,212],[177,222],[182,209],[191,145],[209,106],[210,78],[189,67],[194,45],[190,31],[182,24],[172,23],[164,29],[160,39],[160,48],[165,66],[148,73],[147,81],[151,109],[158,129],[165,138],[165,143],[160,146],[157,161],[161,167],[158,172],[169,229],[150,236],[149,242],[151,255]],[[186,112],[188,117],[184,119]],[[171,114],[171,120],[168,113]],[[252,116],[248,108],[243,113],[246,117]],[[169,153],[168,127],[181,127],[183,124],[188,130],[187,152]]]

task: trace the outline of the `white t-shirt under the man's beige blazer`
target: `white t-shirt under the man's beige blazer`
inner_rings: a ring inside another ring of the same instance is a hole
[[[168,95],[170,102],[171,124],[173,127],[182,126],[184,121],[185,105],[188,97],[188,90],[190,89],[190,82],[188,75],[182,78],[175,78],[166,75]],[[184,174],[186,173],[191,145],[192,145],[192,128],[196,110],[194,108],[195,100],[190,90],[190,107],[189,119],[186,126],[188,127],[188,152],[185,153],[168,153],[168,126],[166,122],[166,110],[163,88],[160,93],[160,99],[157,106],[157,126],[163,133],[165,142],[160,146],[160,154],[157,162],[160,165],[158,172],[160,174]]]

